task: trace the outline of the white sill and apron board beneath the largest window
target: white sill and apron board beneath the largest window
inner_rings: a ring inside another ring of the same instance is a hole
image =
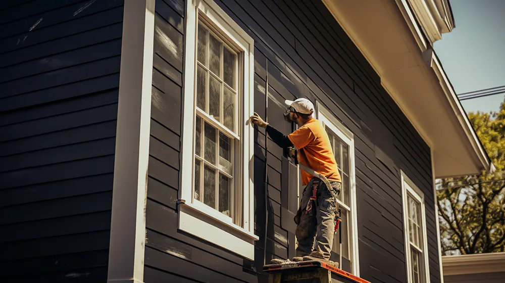
[[[191,210],[192,208],[186,205],[180,206],[179,229],[247,259],[254,260],[254,241],[259,238],[256,236],[257,239],[250,236],[248,239],[240,237],[240,234],[233,233],[234,228],[222,229],[205,215]]]

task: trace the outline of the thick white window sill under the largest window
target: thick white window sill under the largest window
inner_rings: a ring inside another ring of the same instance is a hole
[[[179,229],[247,259],[254,260],[254,241],[260,238],[244,228],[207,213],[199,203],[179,205]],[[217,212],[219,213],[219,212]],[[223,215],[226,218],[225,215]]]

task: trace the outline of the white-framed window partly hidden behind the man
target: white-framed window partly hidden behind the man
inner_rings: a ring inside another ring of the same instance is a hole
[[[359,276],[358,260],[358,218],[356,213],[356,186],[354,161],[354,134],[345,128],[329,111],[319,103],[318,119],[323,124],[330,139],[330,144],[342,178],[342,187],[337,203],[341,209],[342,250],[340,251],[339,233],[333,237],[332,260],[338,261],[342,255],[341,269]],[[335,257],[336,256],[336,257]]]

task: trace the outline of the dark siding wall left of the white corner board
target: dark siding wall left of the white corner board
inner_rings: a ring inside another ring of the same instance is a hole
[[[123,1],[0,4],[0,280],[107,279]]]

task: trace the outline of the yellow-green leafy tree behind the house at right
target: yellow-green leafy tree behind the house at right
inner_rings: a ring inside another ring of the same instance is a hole
[[[496,170],[437,180],[444,255],[505,251],[505,102],[468,118]]]

